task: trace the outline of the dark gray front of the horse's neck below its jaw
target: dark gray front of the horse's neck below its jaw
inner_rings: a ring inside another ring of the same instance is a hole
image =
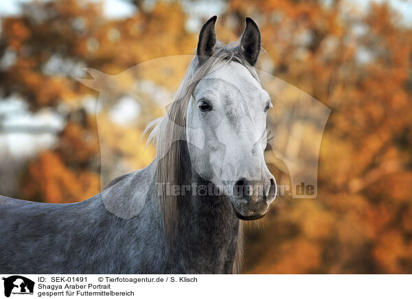
[[[240,220],[233,213],[230,199],[225,195],[199,195],[193,189],[214,187],[192,171],[192,164],[183,145],[181,182],[190,192],[177,200],[177,230],[174,248],[181,252],[180,260],[194,272],[231,273],[236,259]],[[201,193],[203,194],[203,193]],[[189,269],[189,271],[191,271]]]

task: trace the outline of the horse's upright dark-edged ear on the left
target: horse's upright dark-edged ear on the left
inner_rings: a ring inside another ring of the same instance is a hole
[[[202,64],[207,60],[209,56],[213,54],[214,46],[216,45],[216,33],[214,31],[214,25],[216,23],[217,16],[212,16],[201,29],[199,34],[197,56],[199,64]]]

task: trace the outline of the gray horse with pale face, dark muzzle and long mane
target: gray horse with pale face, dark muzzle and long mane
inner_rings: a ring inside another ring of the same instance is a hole
[[[240,219],[263,217],[276,195],[263,154],[271,101],[254,69],[260,32],[246,22],[229,45],[216,40],[216,16],[203,25],[168,115],[150,134],[157,158],[148,167],[73,204],[0,196],[0,272],[240,272]]]

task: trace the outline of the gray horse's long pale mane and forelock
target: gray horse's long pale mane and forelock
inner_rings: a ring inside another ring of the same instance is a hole
[[[201,65],[197,56],[194,56],[187,67],[185,77],[176,91],[176,95],[165,117],[152,121],[145,132],[152,129],[148,137],[148,143],[157,144],[157,188],[159,186],[180,185],[183,179],[181,146],[185,142],[185,124],[187,106],[194,89],[213,67],[219,62],[238,62],[248,69],[251,75],[258,80],[258,74],[251,67],[240,51],[240,43],[226,45],[221,40],[216,40],[214,53]],[[159,194],[159,193],[158,193]],[[178,196],[161,193],[159,195],[161,214],[165,234],[170,244],[172,243],[177,224],[177,200]],[[239,238],[241,239],[241,238]],[[238,244],[239,250],[241,244]],[[238,251],[238,249],[237,249]],[[236,254],[240,259],[240,253]],[[234,270],[234,269],[233,269]],[[238,269],[236,270],[238,272]]]

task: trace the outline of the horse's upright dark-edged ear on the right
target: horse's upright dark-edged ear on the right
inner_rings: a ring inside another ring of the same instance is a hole
[[[258,25],[251,18],[246,18],[246,28],[240,39],[240,52],[252,67],[258,61],[260,53],[260,31]]]

